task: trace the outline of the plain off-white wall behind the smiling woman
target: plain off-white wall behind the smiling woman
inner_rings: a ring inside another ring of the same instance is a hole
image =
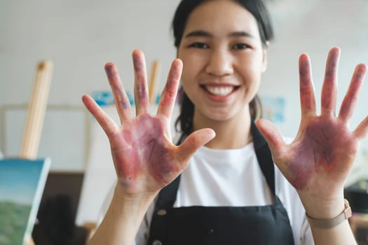
[[[162,87],[175,57],[170,21],[178,2],[0,0],[0,106],[28,102],[41,59],[54,62],[49,104],[81,106],[82,94],[109,90],[103,70],[109,61],[116,62],[125,87],[132,90],[134,48],[144,50],[148,66],[153,59],[161,61]],[[327,51],[333,45],[341,47],[340,102],[355,64],[368,63],[368,1],[269,2],[276,38],[268,50],[261,94],[285,97],[285,123],[280,129],[294,136],[300,116],[299,54],[311,56],[319,96]],[[365,84],[353,127],[368,114],[367,91]]]

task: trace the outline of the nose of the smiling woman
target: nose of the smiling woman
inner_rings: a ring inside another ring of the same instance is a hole
[[[224,49],[212,50],[205,71],[214,76],[226,76],[233,73],[233,57]]]

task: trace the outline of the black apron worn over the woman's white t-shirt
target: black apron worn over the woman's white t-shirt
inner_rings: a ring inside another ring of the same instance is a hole
[[[257,160],[275,197],[274,203],[259,207],[173,208],[179,176],[158,194],[148,244],[294,244],[287,211],[275,195],[271,152],[253,122],[251,131]]]

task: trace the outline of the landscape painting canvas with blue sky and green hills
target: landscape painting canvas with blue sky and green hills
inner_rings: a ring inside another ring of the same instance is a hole
[[[0,244],[29,244],[50,158],[0,160]]]

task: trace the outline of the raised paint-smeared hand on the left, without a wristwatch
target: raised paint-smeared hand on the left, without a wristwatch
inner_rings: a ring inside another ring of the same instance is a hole
[[[135,69],[135,108],[133,115],[129,99],[116,66],[105,65],[107,78],[114,94],[121,125],[116,125],[107,113],[88,95],[82,100],[109,138],[119,189],[125,197],[156,195],[173,181],[187,166],[189,158],[200,146],[214,137],[214,131],[193,132],[180,146],[172,144],[170,121],[182,72],[182,62],[175,59],[158,104],[156,116],[148,113],[149,96],[146,64],[142,51],[132,53]]]

